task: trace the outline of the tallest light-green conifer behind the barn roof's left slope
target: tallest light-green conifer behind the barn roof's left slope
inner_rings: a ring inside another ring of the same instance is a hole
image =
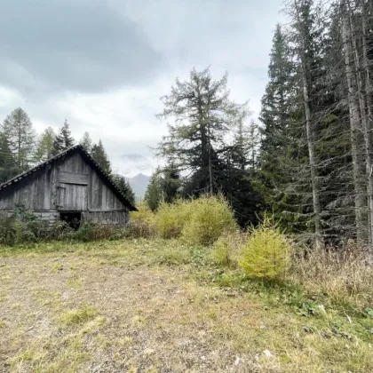
[[[28,114],[20,107],[13,110],[4,120],[3,133],[19,170],[28,170],[33,163],[36,139]]]

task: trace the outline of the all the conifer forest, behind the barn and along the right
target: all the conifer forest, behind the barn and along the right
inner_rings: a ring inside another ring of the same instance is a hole
[[[277,25],[258,119],[230,99],[228,75],[193,69],[163,96],[169,123],[145,202],[223,194],[241,226],[270,215],[316,246],[373,244],[373,4],[290,0]],[[213,61],[211,61],[213,63]],[[107,153],[82,145],[111,174]],[[67,121],[36,137],[20,108],[0,132],[0,182],[75,144]],[[131,194],[123,177],[112,175]],[[131,194],[133,200],[133,194]]]

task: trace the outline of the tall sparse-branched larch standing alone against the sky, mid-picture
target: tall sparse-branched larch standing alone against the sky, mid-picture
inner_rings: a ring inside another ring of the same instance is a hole
[[[162,98],[164,108],[158,117],[172,123],[158,155],[190,174],[191,194],[218,193],[219,154],[225,150],[226,134],[246,109],[246,104],[229,99],[226,83],[227,75],[216,81],[209,68],[193,69],[188,80],[177,79]]]

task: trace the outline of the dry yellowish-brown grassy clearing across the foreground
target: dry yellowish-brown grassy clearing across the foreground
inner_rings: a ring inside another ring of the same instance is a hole
[[[58,249],[0,257],[1,372],[373,370],[359,321],[198,282],[178,242]],[[351,339],[329,331],[336,323]]]

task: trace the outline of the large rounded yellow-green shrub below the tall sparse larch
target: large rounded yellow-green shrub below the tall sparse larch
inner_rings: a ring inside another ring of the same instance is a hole
[[[181,236],[188,243],[210,245],[224,231],[236,228],[234,213],[223,197],[202,196],[189,202],[187,209]]]

